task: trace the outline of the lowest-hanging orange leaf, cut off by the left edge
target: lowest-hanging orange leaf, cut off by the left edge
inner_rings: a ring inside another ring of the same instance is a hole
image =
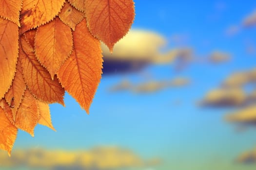
[[[0,149],[11,154],[18,129],[6,118],[4,110],[0,107]]]

